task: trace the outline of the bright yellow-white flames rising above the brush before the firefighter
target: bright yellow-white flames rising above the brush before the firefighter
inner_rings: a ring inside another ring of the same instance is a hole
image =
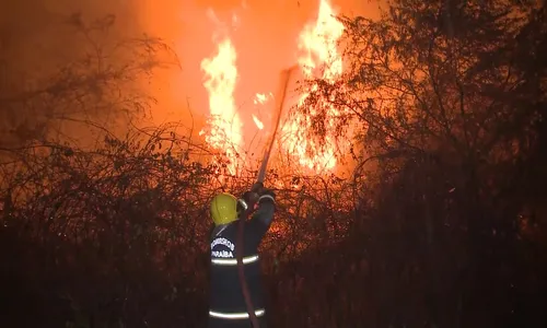
[[[305,24],[299,34],[294,61],[300,67],[300,74],[305,79],[323,78],[334,81],[342,72],[342,59],[337,49],[337,42],[342,35],[344,25],[336,20],[337,12],[328,0],[319,0],[318,4],[316,20]],[[232,16],[233,22],[237,22],[236,14]],[[238,54],[232,42],[233,36],[226,32],[225,25],[222,26],[221,31],[214,31],[212,35],[217,45],[216,51],[210,57],[203,58],[200,63],[210,112],[208,129],[200,133],[205,136],[209,145],[225,154],[231,162],[229,169],[234,174],[247,160],[243,154],[249,145],[249,134],[256,129],[270,132],[267,130],[267,119],[274,117],[271,113],[277,108],[274,108],[272,98],[276,95],[271,91],[267,93],[255,91],[253,110],[240,110],[235,101],[236,85],[242,78],[237,67]],[[271,78],[278,79],[278,77]],[[312,85],[309,92],[302,92],[295,105],[303,106],[310,92],[316,87]],[[286,106],[283,109],[287,112],[289,108]],[[313,114],[313,108],[311,110]],[[271,115],[266,118],[259,117],[257,115],[259,112],[268,112]],[[330,118],[337,114],[337,108],[329,108],[327,126]],[[254,127],[245,126],[244,121],[254,122]],[[311,121],[307,117],[301,114],[289,116],[279,131],[281,151],[287,152],[295,160],[293,162],[303,168],[315,173],[333,171],[337,164],[334,138],[327,132],[325,143],[316,144],[305,138],[304,131],[310,127]]]

